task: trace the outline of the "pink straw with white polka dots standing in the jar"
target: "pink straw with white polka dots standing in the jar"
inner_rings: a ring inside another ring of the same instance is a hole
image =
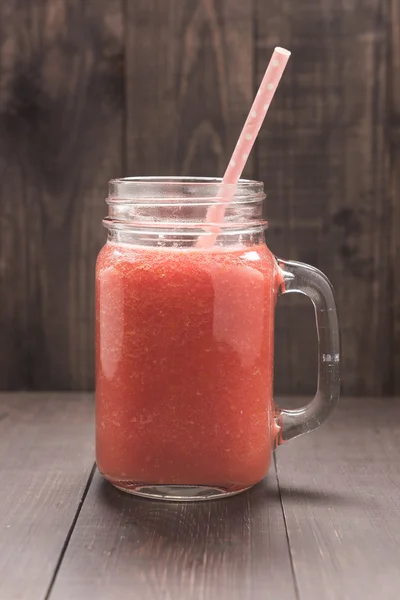
[[[215,225],[215,227],[207,227],[210,234],[203,235],[199,238],[197,241],[198,247],[212,246],[217,239],[218,233],[220,232],[218,223],[222,223],[224,220],[226,205],[232,200],[235,194],[236,185],[246,165],[261,125],[264,122],[265,115],[268,112],[289,57],[289,50],[275,48],[237,141],[235,150],[233,151],[232,158],[222,179],[221,196],[218,198],[218,204],[210,206],[207,211],[206,223],[211,223]],[[231,185],[225,188],[224,184]]]

